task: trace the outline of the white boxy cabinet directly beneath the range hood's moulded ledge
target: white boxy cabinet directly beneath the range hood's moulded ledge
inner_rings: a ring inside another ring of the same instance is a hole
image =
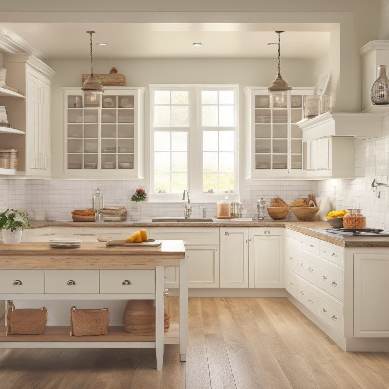
[[[353,178],[354,138],[329,137],[304,142],[308,177]]]

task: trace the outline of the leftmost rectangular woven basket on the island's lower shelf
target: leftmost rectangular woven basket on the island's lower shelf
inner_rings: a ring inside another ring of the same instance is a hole
[[[14,305],[6,311],[6,335],[38,335],[46,329],[47,310],[16,309]]]

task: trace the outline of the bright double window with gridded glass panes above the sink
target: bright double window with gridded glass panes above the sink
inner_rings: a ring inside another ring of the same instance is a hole
[[[150,86],[152,199],[237,195],[237,95],[236,85]]]

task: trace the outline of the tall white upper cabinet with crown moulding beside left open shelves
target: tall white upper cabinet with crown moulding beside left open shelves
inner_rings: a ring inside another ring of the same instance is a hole
[[[5,99],[12,127],[25,133],[2,135],[2,147],[18,151],[18,175],[50,177],[50,85],[54,71],[30,54],[5,54],[9,85],[25,95],[25,99]]]

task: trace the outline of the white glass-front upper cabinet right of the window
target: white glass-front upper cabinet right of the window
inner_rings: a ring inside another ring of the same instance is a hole
[[[302,130],[304,95],[313,89],[292,88],[283,98],[266,88],[245,88],[246,166],[248,178],[303,177]]]

